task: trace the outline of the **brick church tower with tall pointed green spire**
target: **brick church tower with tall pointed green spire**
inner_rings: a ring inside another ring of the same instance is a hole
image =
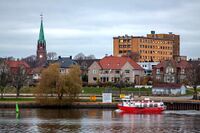
[[[40,33],[37,42],[37,63],[38,65],[44,65],[46,63],[46,60],[47,60],[46,41],[44,38],[44,30],[43,30],[43,16],[41,15]]]

